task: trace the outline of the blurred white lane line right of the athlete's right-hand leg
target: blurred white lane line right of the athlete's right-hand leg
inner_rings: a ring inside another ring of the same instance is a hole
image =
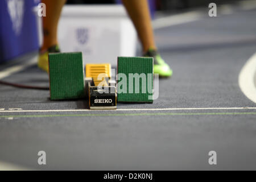
[[[163,18],[152,20],[152,27],[156,30],[159,28],[170,27],[177,24],[193,22],[199,20],[201,17],[203,17],[203,14],[200,11],[190,11],[187,13],[165,16]]]

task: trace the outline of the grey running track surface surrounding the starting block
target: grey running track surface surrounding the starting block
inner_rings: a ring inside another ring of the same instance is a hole
[[[237,11],[156,30],[159,51],[174,76],[160,80],[154,104],[118,108],[255,107],[238,86],[241,68],[256,50],[255,17],[256,10]],[[5,80],[48,85],[46,73],[36,67]],[[0,93],[0,108],[6,110],[87,106],[86,101],[49,101],[48,91],[0,85]],[[0,113],[0,161],[32,169],[256,169],[255,112]],[[38,165],[41,150],[47,154],[46,166]],[[217,152],[216,166],[208,163],[212,150]]]

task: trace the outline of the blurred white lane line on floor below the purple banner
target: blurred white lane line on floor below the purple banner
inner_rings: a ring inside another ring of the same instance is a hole
[[[0,79],[10,76],[13,73],[23,71],[24,69],[26,69],[27,67],[30,67],[31,65],[34,65],[35,63],[36,63],[36,56],[30,61],[26,61],[26,63],[22,65],[15,65],[11,68],[6,68],[5,70],[0,72]]]

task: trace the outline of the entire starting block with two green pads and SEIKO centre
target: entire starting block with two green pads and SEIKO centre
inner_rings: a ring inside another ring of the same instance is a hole
[[[110,64],[86,64],[84,78],[81,52],[49,53],[48,58],[51,100],[87,96],[93,110],[117,109],[117,101],[153,102],[152,57],[118,57],[117,85],[112,79]]]

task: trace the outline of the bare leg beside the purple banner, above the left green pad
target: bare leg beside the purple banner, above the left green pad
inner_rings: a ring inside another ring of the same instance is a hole
[[[46,4],[46,17],[43,17],[43,46],[42,50],[57,44],[57,26],[61,9],[66,0],[42,0]]]

